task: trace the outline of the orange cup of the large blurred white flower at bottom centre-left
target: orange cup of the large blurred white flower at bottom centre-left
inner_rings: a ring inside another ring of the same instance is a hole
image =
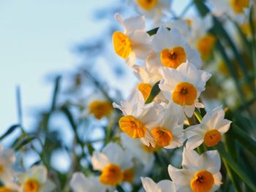
[[[123,181],[124,175],[121,168],[115,164],[108,164],[102,170],[99,176],[99,181],[105,185],[118,185]]]

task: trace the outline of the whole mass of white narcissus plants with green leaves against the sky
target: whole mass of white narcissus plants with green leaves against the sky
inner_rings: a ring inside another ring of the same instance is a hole
[[[58,103],[57,77],[37,131],[19,123],[1,136],[20,128],[12,149],[0,147],[0,192],[256,191],[255,1],[194,0],[181,15],[173,1],[131,0],[139,15],[115,15],[113,51],[138,77],[126,99],[81,70],[75,85],[86,77],[96,93],[81,104],[72,90]],[[70,145],[49,129],[58,112]],[[71,157],[68,172],[51,164],[55,149]],[[28,151],[39,160],[25,169]]]

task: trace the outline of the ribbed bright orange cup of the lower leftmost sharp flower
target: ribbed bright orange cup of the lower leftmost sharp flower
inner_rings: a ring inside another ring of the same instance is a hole
[[[126,115],[120,118],[119,126],[129,137],[142,138],[146,135],[146,126],[132,115]]]

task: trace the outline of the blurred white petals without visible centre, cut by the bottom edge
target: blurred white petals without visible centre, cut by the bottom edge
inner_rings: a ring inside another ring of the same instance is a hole
[[[99,177],[85,177],[81,172],[75,172],[70,181],[74,192],[105,192],[107,187],[99,182]]]

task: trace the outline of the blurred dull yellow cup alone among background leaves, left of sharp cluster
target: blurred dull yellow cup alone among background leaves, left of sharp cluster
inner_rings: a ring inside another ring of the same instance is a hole
[[[92,101],[89,104],[89,113],[93,114],[97,119],[109,115],[112,110],[113,107],[109,101]]]

